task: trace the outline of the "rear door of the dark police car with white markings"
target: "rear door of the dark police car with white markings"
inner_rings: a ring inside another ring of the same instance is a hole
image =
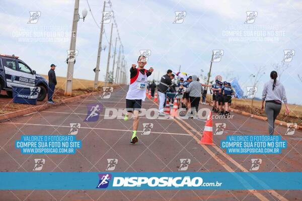
[[[5,58],[2,59],[3,66],[5,70],[5,79],[7,87],[12,87],[12,85],[19,85],[16,83],[16,78],[18,78],[18,67],[15,59]]]

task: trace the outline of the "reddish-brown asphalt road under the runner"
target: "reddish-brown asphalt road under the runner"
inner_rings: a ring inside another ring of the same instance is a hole
[[[282,154],[226,154],[220,149],[225,135],[267,134],[267,123],[232,113],[225,123],[222,135],[214,135],[217,146],[198,144],[205,121],[141,118],[138,128],[139,142],[129,143],[132,120],[104,119],[107,109],[124,109],[127,87],[115,89],[108,99],[100,95],[89,96],[73,103],[54,106],[45,111],[10,119],[0,123],[0,170],[32,172],[35,158],[45,159],[41,171],[45,172],[104,172],[107,159],[118,159],[113,171],[178,172],[180,159],[190,159],[185,171],[225,172],[249,171],[251,159],[262,159],[258,171],[294,172],[302,167],[302,133],[284,135],[285,127],[276,126],[276,134],[287,140]],[[88,104],[102,104],[103,111],[97,122],[84,122]],[[152,100],[143,102],[144,109],[154,109]],[[200,108],[210,108],[200,105]],[[15,141],[21,135],[67,135],[70,123],[80,123],[77,140],[82,148],[76,154],[21,154]],[[143,123],[152,123],[149,135],[142,135]],[[213,126],[214,127],[214,126]],[[213,128],[215,130],[215,127]],[[45,181],[47,182],[47,181]],[[96,183],[97,185],[97,183]],[[294,200],[301,199],[300,190],[2,190],[0,200]]]

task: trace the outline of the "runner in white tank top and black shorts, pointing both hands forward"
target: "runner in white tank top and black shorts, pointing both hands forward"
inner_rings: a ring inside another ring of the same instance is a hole
[[[146,65],[145,56],[139,56],[137,60],[138,68],[132,64],[130,68],[130,84],[126,96],[126,109],[127,114],[124,120],[127,121],[129,113],[133,114],[133,132],[130,143],[135,144],[138,141],[136,136],[138,127],[138,112],[141,109],[141,102],[146,98],[146,88],[148,85],[147,77],[153,72],[153,68],[149,70],[144,69]]]

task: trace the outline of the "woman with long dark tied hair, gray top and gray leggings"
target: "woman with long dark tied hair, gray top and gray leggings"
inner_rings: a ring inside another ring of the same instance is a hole
[[[277,72],[271,71],[271,80],[266,82],[262,91],[262,106],[261,110],[264,108],[265,101],[265,113],[267,115],[268,122],[268,133],[269,135],[274,134],[274,123],[280,113],[281,103],[283,101],[285,105],[285,114],[289,114],[289,109],[287,106],[287,98],[285,94],[284,86],[277,80]]]

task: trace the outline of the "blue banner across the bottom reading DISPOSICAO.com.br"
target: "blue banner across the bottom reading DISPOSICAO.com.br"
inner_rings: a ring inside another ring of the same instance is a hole
[[[0,189],[302,189],[302,172],[0,172]]]

